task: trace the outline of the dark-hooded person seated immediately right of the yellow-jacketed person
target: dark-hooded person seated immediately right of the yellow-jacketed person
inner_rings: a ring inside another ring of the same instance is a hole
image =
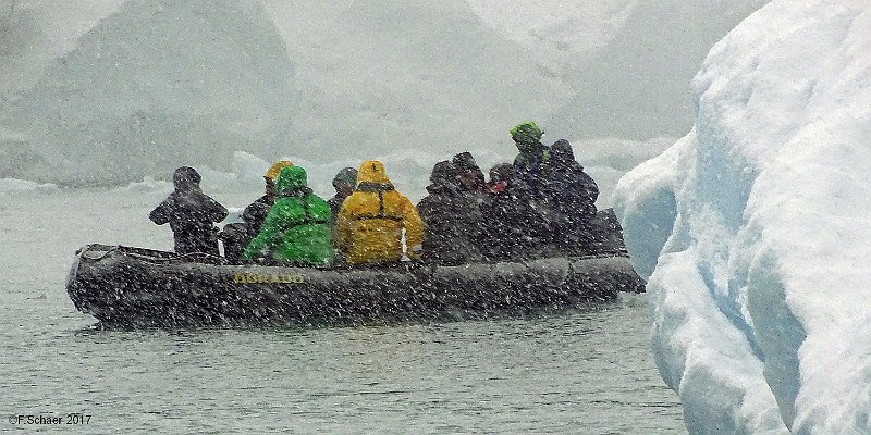
[[[449,265],[482,260],[483,219],[475,194],[461,187],[457,167],[449,161],[436,164],[430,182],[429,195],[417,204],[426,234],[422,259]]]

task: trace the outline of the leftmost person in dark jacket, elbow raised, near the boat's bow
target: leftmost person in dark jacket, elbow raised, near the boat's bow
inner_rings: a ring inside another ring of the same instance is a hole
[[[170,224],[176,253],[220,256],[214,223],[226,217],[226,209],[200,190],[199,181],[199,173],[193,167],[175,170],[172,175],[175,191],[151,210],[148,217],[158,225]]]

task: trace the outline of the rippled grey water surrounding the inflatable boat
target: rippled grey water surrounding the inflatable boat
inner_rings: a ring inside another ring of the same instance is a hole
[[[687,433],[650,356],[645,295],[466,322],[97,328],[63,287],[73,252],[168,248],[169,229],[143,214],[159,196],[49,190],[0,201],[0,432]]]

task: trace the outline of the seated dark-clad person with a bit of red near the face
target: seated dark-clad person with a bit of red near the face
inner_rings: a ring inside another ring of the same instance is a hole
[[[547,221],[529,203],[526,185],[516,178],[512,164],[496,165],[490,174],[491,190],[481,204],[484,256],[491,261],[537,257],[547,240]]]

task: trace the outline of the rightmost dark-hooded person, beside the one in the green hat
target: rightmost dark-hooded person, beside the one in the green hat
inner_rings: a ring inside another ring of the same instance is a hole
[[[589,241],[598,197],[599,187],[575,160],[572,145],[563,139],[554,142],[550,149],[543,202],[556,246],[575,253],[578,244]]]

